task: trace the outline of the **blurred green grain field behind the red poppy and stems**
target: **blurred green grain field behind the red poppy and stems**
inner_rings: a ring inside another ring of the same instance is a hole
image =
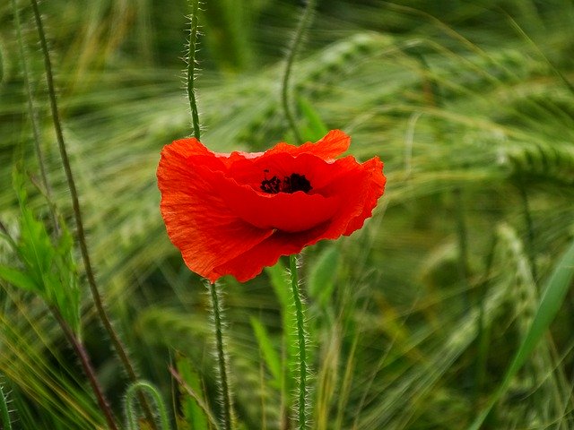
[[[30,4],[16,3],[53,199],[71,219]],[[181,410],[167,366],[176,351],[218,409],[208,297],[165,233],[155,179],[161,147],[191,134],[189,6],[50,0],[40,8],[109,312],[174,417]],[[301,13],[296,1],[204,2],[196,86],[209,148],[293,141],[279,82]],[[39,169],[13,19],[3,1],[0,220],[18,236],[17,147],[39,219],[48,205],[31,185]],[[291,77],[298,125],[309,140],[321,137],[317,124],[350,133],[358,159],[384,160],[387,192],[360,232],[303,254],[313,428],[464,429],[500,386],[574,236],[573,24],[568,0],[318,2]],[[0,262],[16,264],[1,241]],[[281,277],[272,274],[224,283],[236,409],[249,429],[281,428],[281,393],[251,323],[263,324],[280,353]],[[15,426],[101,423],[46,307],[0,286],[0,384]],[[120,409],[126,381],[84,296],[84,340]],[[483,428],[574,428],[573,298]]]

